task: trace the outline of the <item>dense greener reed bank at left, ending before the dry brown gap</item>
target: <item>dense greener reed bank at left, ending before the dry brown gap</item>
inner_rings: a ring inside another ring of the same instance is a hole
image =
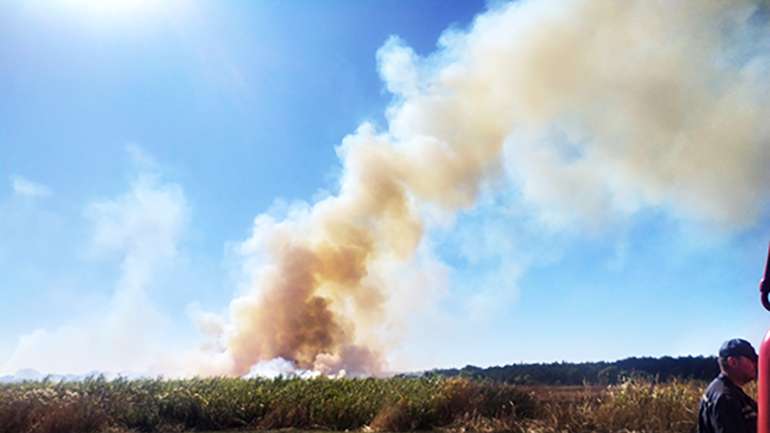
[[[429,430],[534,415],[530,393],[468,379],[189,379],[0,386],[4,432]]]

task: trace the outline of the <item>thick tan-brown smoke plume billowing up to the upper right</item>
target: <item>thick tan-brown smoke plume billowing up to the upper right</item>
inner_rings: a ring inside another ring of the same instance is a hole
[[[420,57],[377,53],[387,128],[338,149],[339,191],[243,244],[226,370],[283,358],[376,374],[403,308],[426,207],[474,206],[504,173],[543,221],[601,223],[645,208],[740,229],[770,198],[767,24],[749,1],[520,1],[448,31]],[[763,35],[765,37],[760,37]]]

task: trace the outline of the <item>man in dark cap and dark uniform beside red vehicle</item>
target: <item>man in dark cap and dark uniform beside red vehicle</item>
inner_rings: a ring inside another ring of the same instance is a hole
[[[698,433],[756,433],[757,403],[741,387],[757,378],[757,352],[746,340],[728,340],[718,362],[721,373],[700,401]]]

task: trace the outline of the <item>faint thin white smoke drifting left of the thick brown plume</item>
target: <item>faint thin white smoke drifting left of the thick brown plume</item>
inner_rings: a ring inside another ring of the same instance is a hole
[[[143,174],[126,193],[90,204],[85,215],[93,258],[120,263],[108,304],[88,317],[21,336],[0,370],[150,373],[168,351],[161,338],[168,319],[150,301],[150,291],[159,270],[177,255],[187,220],[181,188]]]

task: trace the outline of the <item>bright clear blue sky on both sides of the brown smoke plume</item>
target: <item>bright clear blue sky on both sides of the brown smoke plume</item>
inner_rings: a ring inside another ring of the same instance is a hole
[[[239,245],[255,217],[281,219],[337,194],[343,138],[363,122],[387,130],[387,110],[411,97],[384,69],[394,57],[378,63],[378,50],[405,49],[430,75],[452,61],[451,35],[479,34],[474,17],[506,7],[95,4],[0,5],[0,372],[141,369],[163,349],[204,344],[196,323],[226,317],[248,285]],[[395,48],[382,48],[391,35]],[[752,48],[758,54],[745,56],[764,58],[763,47]],[[753,70],[733,62],[728,75]],[[521,123],[546,116],[544,107],[522,112]],[[619,187],[575,182],[588,192],[560,196],[551,187],[577,178],[540,173],[572,166],[548,165],[516,143],[579,146],[599,135],[590,132],[596,118],[560,127],[566,139],[512,128],[502,172],[484,178],[472,205],[421,213],[430,222],[417,254],[427,258],[416,272],[440,288],[426,291],[396,333],[391,368],[708,355],[731,337],[759,343],[770,323],[757,296],[770,240],[767,177],[752,178],[757,187],[712,170],[669,188],[653,170],[618,175]],[[757,140],[761,163],[768,142]],[[720,151],[732,155],[733,145]],[[683,171],[713,169],[703,158]],[[727,178],[714,182],[719,176]],[[587,203],[605,189],[589,210],[569,199]],[[744,212],[741,197],[756,205]],[[134,351],[144,355],[124,362]]]

